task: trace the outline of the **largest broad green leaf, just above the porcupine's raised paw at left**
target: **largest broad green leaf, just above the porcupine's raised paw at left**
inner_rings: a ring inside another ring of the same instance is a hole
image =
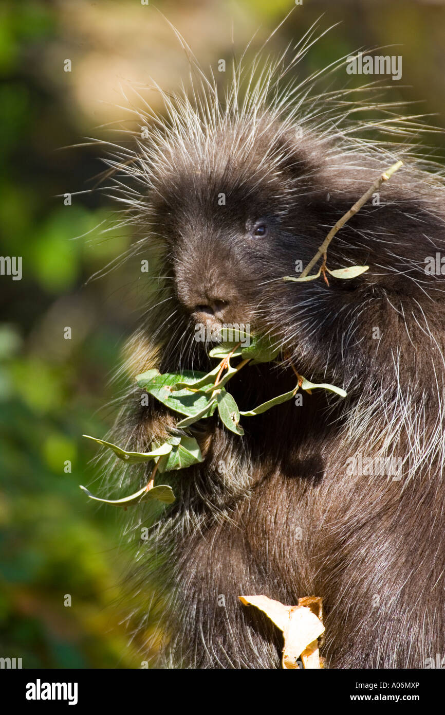
[[[192,393],[187,389],[173,391],[173,387],[179,381],[187,385],[193,385],[196,377],[204,378],[206,373],[192,373],[190,370],[186,370],[181,375],[179,373],[165,373],[164,375],[157,375],[151,380],[146,380],[144,375],[137,375],[136,380],[140,388],[145,389],[147,393],[153,395],[163,405],[175,412],[179,412],[181,415],[191,417],[201,413],[206,405],[209,405],[209,395],[203,392]],[[216,405],[213,405],[210,414],[213,413],[215,408]]]

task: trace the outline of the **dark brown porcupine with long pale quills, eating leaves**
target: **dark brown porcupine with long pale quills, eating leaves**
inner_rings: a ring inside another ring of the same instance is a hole
[[[174,475],[176,502],[136,557],[136,588],[159,591],[168,613],[156,661],[166,667],[280,667],[281,633],[241,594],[321,596],[331,668],[417,668],[444,652],[444,278],[424,270],[445,247],[444,172],[406,140],[414,120],[395,125],[401,143],[366,139],[351,91],[316,94],[318,77],[287,83],[311,41],[262,70],[261,56],[252,70],[234,64],[223,97],[191,58],[193,92],[163,94],[166,118],[139,113],[148,138],[109,159],[148,236],[139,245],[161,255],[160,300],[135,338],[157,358],[139,350],[134,373],[207,372],[215,363],[194,326],[250,324],[279,341],[281,361],[231,380],[242,409],[293,388],[293,367],[348,392],[304,393],[302,405],[244,418],[243,438],[216,416],[194,425],[204,463]],[[386,126],[382,111],[373,131]],[[369,271],[283,282],[398,159],[380,202],[329,247],[331,269]],[[140,398],[119,418],[119,443],[146,450],[176,420]],[[395,457],[401,473],[351,474],[359,454]],[[126,474],[142,485],[149,471]]]

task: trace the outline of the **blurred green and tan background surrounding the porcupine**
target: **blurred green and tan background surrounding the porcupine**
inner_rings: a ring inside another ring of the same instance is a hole
[[[135,285],[119,266],[86,283],[132,237],[97,228],[111,212],[109,199],[89,191],[104,169],[101,147],[61,147],[109,138],[109,123],[125,119],[128,83],[154,79],[174,90],[187,82],[186,56],[156,8],[201,66],[215,69],[234,50],[241,54],[257,30],[259,48],[293,6],[1,2],[0,255],[21,256],[23,277],[0,275],[0,656],[21,657],[24,668],[140,667],[144,640],[141,633],[127,646],[129,556],[119,519],[113,508],[89,502],[79,484],[94,487],[96,450],[81,435],[101,437],[116,416],[106,405],[121,385],[110,378],[150,284]],[[360,47],[399,45],[391,54],[403,56],[403,77],[389,81],[391,99],[422,100],[415,111],[439,114],[428,121],[445,127],[444,2],[303,0],[271,51],[297,41],[319,16],[321,29],[340,24],[299,65],[302,77]],[[337,78],[336,87],[339,80],[351,77]],[[161,110],[156,92],[144,98]],[[440,134],[429,142],[443,155]],[[71,340],[64,340],[66,326]],[[144,608],[144,594],[140,600]]]

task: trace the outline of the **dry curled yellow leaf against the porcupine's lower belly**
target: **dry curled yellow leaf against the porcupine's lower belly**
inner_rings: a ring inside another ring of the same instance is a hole
[[[299,598],[298,606],[285,606],[267,596],[239,596],[245,606],[255,606],[266,613],[283,631],[283,668],[296,669],[301,658],[304,668],[320,668],[318,638],[324,633],[321,598]]]

